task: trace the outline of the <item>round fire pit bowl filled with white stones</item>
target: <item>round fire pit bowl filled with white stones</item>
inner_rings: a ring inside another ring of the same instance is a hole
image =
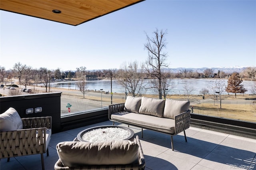
[[[104,142],[107,140],[133,141],[134,131],[120,126],[98,126],[82,130],[78,133],[77,139],[83,142]]]

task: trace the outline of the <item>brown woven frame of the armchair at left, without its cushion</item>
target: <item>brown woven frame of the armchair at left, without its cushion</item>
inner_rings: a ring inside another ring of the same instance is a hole
[[[46,128],[52,128],[52,117],[22,118],[21,130],[0,132],[0,158],[41,154],[42,169],[44,170],[44,156],[46,149]]]

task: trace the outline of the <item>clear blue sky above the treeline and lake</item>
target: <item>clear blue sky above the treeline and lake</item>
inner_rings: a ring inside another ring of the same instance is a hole
[[[78,26],[0,11],[0,65],[118,69],[156,28],[170,68],[256,66],[256,0],[146,0]]]

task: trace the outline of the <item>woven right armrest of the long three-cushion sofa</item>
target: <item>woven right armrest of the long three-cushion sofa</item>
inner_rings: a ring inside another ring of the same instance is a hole
[[[186,130],[190,126],[190,110],[175,116],[175,134]]]

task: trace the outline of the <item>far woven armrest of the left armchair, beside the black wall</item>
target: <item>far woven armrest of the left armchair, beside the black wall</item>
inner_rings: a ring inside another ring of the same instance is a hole
[[[28,128],[52,128],[52,117],[22,118],[23,129]]]

